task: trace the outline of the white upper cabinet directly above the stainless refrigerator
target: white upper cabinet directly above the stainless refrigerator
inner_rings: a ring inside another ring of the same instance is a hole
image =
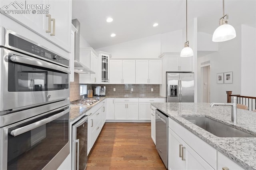
[[[180,53],[162,53],[164,71],[192,71],[192,57],[180,57]]]

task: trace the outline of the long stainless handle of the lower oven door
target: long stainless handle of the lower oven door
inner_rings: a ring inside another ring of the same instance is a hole
[[[67,110],[62,111],[62,112],[60,112],[60,113],[58,113],[58,114],[56,114],[56,115],[53,115],[53,116],[51,116],[51,117],[48,117],[48,118],[46,118],[46,119],[42,119],[42,120],[40,120],[40,121],[38,121],[38,122],[31,123],[31,124],[26,125],[26,126],[24,126],[24,127],[16,128],[16,129],[12,130],[12,131],[10,132],[10,134],[11,134],[12,136],[18,136],[18,135],[20,135],[20,134],[22,134],[22,133],[25,133],[25,132],[28,132],[28,131],[30,131],[30,130],[33,130],[33,129],[35,129],[35,128],[37,128],[37,127],[40,127],[40,126],[42,126],[42,125],[45,125],[46,123],[49,123],[49,122],[51,122],[51,121],[53,121],[53,120],[55,120],[55,119],[58,119],[59,117],[62,117],[63,115],[65,115],[66,113],[68,113],[70,110],[71,110],[71,109],[68,108]]]

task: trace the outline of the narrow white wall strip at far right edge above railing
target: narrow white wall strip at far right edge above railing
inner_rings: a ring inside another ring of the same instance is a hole
[[[242,25],[241,95],[256,96],[256,28]]]

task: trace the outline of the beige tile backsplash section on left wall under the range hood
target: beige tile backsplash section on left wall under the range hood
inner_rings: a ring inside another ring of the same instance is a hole
[[[74,82],[70,82],[70,101],[80,99],[79,74],[74,73]]]

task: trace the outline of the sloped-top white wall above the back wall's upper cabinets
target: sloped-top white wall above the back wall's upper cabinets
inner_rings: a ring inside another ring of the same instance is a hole
[[[157,34],[95,50],[111,53],[112,58],[158,58],[161,54],[161,35]]]

